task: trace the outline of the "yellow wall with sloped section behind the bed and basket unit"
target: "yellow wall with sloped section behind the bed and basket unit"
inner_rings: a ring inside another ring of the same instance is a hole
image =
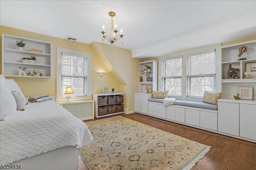
[[[131,52],[126,49],[102,45],[102,43],[92,43],[90,45],[78,42],[67,41],[56,37],[15,29],[0,25],[1,47],[2,34],[25,37],[52,43],[52,77],[51,78],[13,78],[20,86],[25,96],[37,96],[47,94],[56,97],[56,47],[72,50],[85,51],[92,55],[91,65],[91,93],[102,93],[104,87],[112,88],[115,92],[124,92],[124,107],[129,111],[134,109],[134,92],[138,92],[138,63],[141,60],[132,59]],[[2,63],[2,48],[0,51]],[[102,77],[98,72],[106,72]],[[2,74],[2,65],[0,66]],[[91,96],[92,99],[92,96]]]

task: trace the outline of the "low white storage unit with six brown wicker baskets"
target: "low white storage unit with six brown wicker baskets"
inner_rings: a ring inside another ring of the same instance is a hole
[[[93,100],[96,118],[124,113],[124,93],[96,93]]]

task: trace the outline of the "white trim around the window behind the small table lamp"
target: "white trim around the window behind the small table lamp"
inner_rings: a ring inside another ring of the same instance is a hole
[[[91,99],[91,53],[84,51],[77,51],[72,49],[66,49],[57,47],[57,67],[56,67],[56,101],[64,102],[67,99],[62,97],[62,53],[72,53],[79,57],[87,58],[87,96],[72,96],[70,101],[74,100],[90,100]]]

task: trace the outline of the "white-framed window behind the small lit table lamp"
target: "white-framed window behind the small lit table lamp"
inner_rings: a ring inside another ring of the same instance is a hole
[[[90,99],[90,53],[57,47],[57,101],[65,99],[71,86],[71,100]]]

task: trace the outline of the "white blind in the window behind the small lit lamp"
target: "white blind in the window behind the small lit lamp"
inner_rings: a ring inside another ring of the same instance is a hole
[[[62,97],[67,86],[71,86],[72,96],[87,96],[87,58],[62,52]]]

